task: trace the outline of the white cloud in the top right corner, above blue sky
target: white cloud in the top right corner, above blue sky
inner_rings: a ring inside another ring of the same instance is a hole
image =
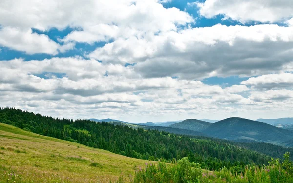
[[[249,21],[280,22],[293,16],[292,0],[206,0],[196,3],[200,15],[213,18],[224,15],[225,19],[246,23]]]

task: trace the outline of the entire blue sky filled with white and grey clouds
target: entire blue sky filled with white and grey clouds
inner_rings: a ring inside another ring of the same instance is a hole
[[[0,106],[133,123],[293,117],[293,1],[1,0]]]

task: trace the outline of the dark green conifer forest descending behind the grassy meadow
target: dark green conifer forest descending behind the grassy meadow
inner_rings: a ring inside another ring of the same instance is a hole
[[[41,135],[78,142],[87,146],[139,159],[170,162],[189,155],[203,168],[218,169],[256,163],[266,164],[268,156],[224,141],[193,139],[159,130],[133,129],[91,120],[58,119],[14,108],[0,109],[0,122]]]

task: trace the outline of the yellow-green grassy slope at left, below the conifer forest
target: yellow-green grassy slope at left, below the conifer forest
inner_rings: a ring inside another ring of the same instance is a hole
[[[146,162],[2,123],[0,147],[0,183],[9,179],[9,170],[16,170],[23,183],[109,183],[121,174],[133,175]],[[90,166],[93,162],[96,167]]]

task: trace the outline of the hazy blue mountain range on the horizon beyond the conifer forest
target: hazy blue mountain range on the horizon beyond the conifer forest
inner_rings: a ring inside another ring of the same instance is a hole
[[[91,120],[96,122],[117,122],[116,124],[128,125],[132,128],[140,127],[147,130],[167,131],[181,135],[215,137],[237,142],[266,142],[293,147],[293,131],[273,126],[279,123],[290,124],[291,119],[259,119],[258,121],[253,121],[232,117],[218,122],[214,122],[214,120],[214,123],[211,123],[212,120],[207,120],[210,122],[206,122],[197,119],[187,119],[174,122],[146,122],[139,124],[113,119]]]

